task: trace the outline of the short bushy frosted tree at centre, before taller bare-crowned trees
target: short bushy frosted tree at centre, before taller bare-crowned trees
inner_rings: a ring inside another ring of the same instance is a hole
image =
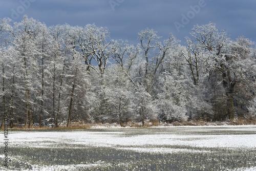
[[[106,69],[104,78],[108,86],[105,87],[107,102],[111,108],[111,115],[123,126],[124,122],[134,120],[134,92],[135,85],[127,77],[127,73],[119,65]]]

